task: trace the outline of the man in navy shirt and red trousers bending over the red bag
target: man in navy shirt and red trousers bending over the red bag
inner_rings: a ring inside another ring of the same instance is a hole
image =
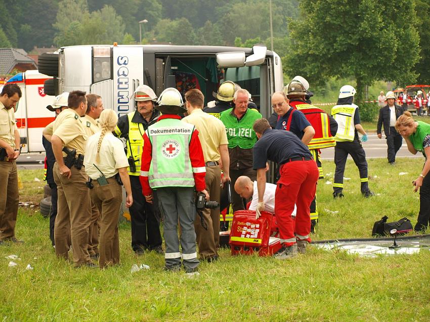
[[[309,205],[317,188],[318,168],[308,147],[298,137],[285,130],[271,129],[266,119],[253,125],[259,141],[253,150],[253,168],[257,170],[258,201],[256,216],[265,209],[266,162],[280,164],[280,178],[275,192],[275,215],[279,224],[282,248],[274,254],[277,259],[287,259],[299,252],[305,253],[311,231]],[[291,213],[297,205],[295,220]],[[295,235],[294,235],[295,233]]]

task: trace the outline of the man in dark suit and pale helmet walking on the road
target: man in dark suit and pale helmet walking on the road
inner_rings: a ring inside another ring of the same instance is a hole
[[[376,133],[379,139],[382,138],[381,128],[385,133],[386,145],[387,145],[387,157],[388,162],[391,165],[395,165],[396,153],[402,146],[402,136],[396,131],[394,125],[396,124],[397,118],[402,115],[402,109],[396,105],[396,98],[392,91],[386,93],[387,105],[379,109],[378,124],[376,126]]]

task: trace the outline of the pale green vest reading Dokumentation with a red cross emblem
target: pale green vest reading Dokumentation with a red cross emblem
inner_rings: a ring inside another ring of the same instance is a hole
[[[195,169],[189,153],[193,131],[194,125],[171,118],[148,127],[147,135],[152,144],[148,179],[152,189],[195,186]]]

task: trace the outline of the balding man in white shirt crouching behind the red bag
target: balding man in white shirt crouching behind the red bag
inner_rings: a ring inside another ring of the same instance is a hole
[[[234,190],[236,193],[246,200],[251,200],[251,204],[249,205],[249,210],[255,210],[257,207],[257,204],[259,203],[259,192],[257,190],[257,181],[253,181],[245,176],[242,175],[237,178],[236,183],[234,185]],[[266,182],[266,189],[264,192],[264,211],[275,213],[275,191],[276,191],[276,185],[273,183]],[[291,216],[295,216],[296,213],[296,206],[294,205],[294,210],[291,213]]]

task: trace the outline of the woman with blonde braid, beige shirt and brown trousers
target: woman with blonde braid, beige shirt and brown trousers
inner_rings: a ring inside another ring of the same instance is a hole
[[[99,266],[103,268],[119,263],[118,216],[122,190],[118,175],[127,193],[126,207],[133,204],[133,196],[122,142],[112,134],[118,116],[113,110],[104,110],[99,120],[102,130],[88,139],[83,164],[91,179],[91,199],[100,211]]]

